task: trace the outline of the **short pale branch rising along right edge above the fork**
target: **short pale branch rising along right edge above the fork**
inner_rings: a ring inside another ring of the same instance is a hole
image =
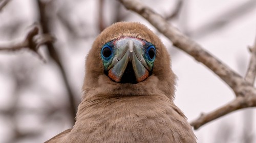
[[[250,48],[251,51],[251,59],[249,63],[249,67],[247,69],[247,73],[245,75],[245,80],[253,85],[256,76],[256,38],[254,41],[254,45]]]

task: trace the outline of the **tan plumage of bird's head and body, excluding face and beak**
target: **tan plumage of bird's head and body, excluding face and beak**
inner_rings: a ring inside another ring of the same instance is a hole
[[[100,50],[121,37],[136,37],[156,47],[152,75],[136,84],[114,82],[104,73]],[[106,28],[87,56],[84,94],[76,123],[46,142],[196,142],[191,126],[174,104],[175,74],[161,40],[137,22]]]

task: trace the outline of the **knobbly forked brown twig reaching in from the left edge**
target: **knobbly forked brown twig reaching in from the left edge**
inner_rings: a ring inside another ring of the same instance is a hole
[[[39,46],[47,43],[52,43],[54,41],[55,38],[50,34],[39,35],[39,28],[37,26],[34,26],[28,32],[24,41],[15,44],[11,43],[6,46],[0,46],[0,50],[15,51],[23,48],[28,48],[31,51],[35,52],[41,60],[44,60],[37,51]]]

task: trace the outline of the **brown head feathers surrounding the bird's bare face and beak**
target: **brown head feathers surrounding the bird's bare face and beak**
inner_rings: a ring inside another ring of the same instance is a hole
[[[156,58],[153,73],[145,81],[137,84],[113,82],[103,72],[100,58],[101,47],[109,41],[121,37],[136,37],[151,42],[156,47]],[[170,69],[170,57],[161,40],[145,25],[138,22],[117,22],[106,28],[96,38],[86,61],[86,77],[83,91],[97,90],[99,93],[112,95],[153,95],[162,93],[174,98],[175,75]]]

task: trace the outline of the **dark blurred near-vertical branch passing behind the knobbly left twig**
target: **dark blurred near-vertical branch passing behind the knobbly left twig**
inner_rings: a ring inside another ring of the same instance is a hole
[[[40,17],[40,24],[42,26],[42,31],[43,31],[43,33],[50,33],[50,21],[49,20],[51,18],[47,15],[47,11],[46,11],[47,2],[37,0],[37,5],[38,5],[38,9],[39,9],[39,17]],[[60,69],[62,78],[65,83],[65,87],[68,91],[68,98],[69,98],[69,103],[70,103],[70,107],[71,107],[70,113],[71,113],[71,116],[73,117],[72,118],[73,123],[75,123],[76,108],[77,108],[76,102],[75,102],[75,94],[71,90],[67,74],[65,72],[65,69],[63,68],[63,64],[60,61],[58,52],[55,50],[55,46],[52,43],[47,43],[47,47],[48,47],[49,54],[50,54],[52,60],[57,64],[57,66]]]

